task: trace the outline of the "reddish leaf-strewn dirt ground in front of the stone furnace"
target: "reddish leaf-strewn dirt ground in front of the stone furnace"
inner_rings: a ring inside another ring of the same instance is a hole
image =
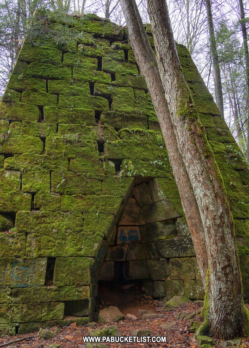
[[[106,299],[107,301],[107,299]],[[136,306],[131,308],[131,303],[122,300],[122,310],[124,312],[130,311],[130,314],[137,314],[137,310],[140,309],[150,309],[152,311],[156,311],[156,306],[153,301],[144,300],[137,301]],[[148,302],[148,303],[144,303]],[[126,307],[127,304],[127,307]],[[113,301],[112,301],[113,305]],[[72,324],[69,327],[60,328],[60,332],[57,327],[50,328],[51,331],[56,332],[56,336],[53,339],[42,340],[37,336],[37,333],[27,334],[27,335],[17,335],[17,336],[5,336],[0,338],[0,347],[3,343],[8,343],[8,346],[15,347],[25,347],[25,348],[43,348],[46,345],[52,343],[58,343],[61,345],[61,348],[84,348],[84,343],[82,341],[82,336],[85,336],[90,330],[98,328],[103,329],[105,326],[110,326],[115,324],[120,330],[122,335],[130,336],[134,330],[145,329],[151,330],[154,336],[166,336],[166,343],[107,343],[108,347],[112,348],[123,348],[123,347],[155,347],[155,348],[164,348],[164,347],[178,347],[178,348],[197,348],[198,344],[196,339],[194,338],[194,334],[189,332],[190,329],[190,320],[186,319],[176,319],[177,315],[182,313],[183,311],[188,312],[189,314],[194,314],[192,321],[200,321],[199,315],[196,313],[201,309],[198,304],[194,302],[188,302],[183,304],[181,307],[176,308],[174,310],[168,310],[164,312],[158,312],[158,314],[163,313],[162,318],[155,318],[153,320],[142,320],[141,317],[136,320],[124,319],[116,323],[108,323],[108,324],[88,324],[85,326],[76,326],[76,324]],[[161,325],[169,324],[172,325],[170,329],[163,329]],[[57,329],[57,330],[56,330]],[[35,337],[28,338],[32,335]],[[13,342],[13,340],[25,338],[24,341],[21,342]],[[221,347],[220,341],[216,341],[216,348]],[[12,343],[13,342],[13,343]],[[6,346],[6,347],[8,347]],[[248,348],[249,341],[246,339],[242,339],[240,347]],[[231,347],[230,347],[231,348]]]

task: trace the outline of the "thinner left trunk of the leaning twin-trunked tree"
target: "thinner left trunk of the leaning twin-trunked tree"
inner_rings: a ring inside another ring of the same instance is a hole
[[[166,148],[169,155],[169,160],[173,169],[173,174],[178,185],[181,199],[184,200],[183,210],[188,221],[188,226],[191,231],[193,244],[195,247],[196,257],[199,264],[200,273],[202,276],[203,286],[206,287],[206,272],[207,272],[207,253],[204,242],[204,233],[201,222],[201,217],[197,207],[196,199],[193,193],[186,167],[183,164],[182,158],[178,151],[174,128],[169,118],[168,105],[165,100],[165,93],[157,69],[157,62],[154,52],[148,41],[148,37],[144,31],[144,26],[140,20],[137,26],[133,25],[135,18],[140,18],[137,7],[131,1],[122,1],[121,6],[124,13],[129,11],[130,18],[126,18],[129,38],[133,45],[134,54],[138,62],[139,68],[145,77],[146,84],[150,91],[156,110],[160,126],[165,139]],[[140,18],[141,19],[141,18]],[[130,30],[130,27],[133,30]],[[143,52],[143,54],[141,54]],[[191,217],[195,216],[195,219]]]

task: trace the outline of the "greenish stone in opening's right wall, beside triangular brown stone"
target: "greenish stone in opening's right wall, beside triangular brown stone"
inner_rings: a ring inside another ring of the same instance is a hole
[[[167,219],[175,219],[182,216],[181,209],[176,209],[169,199],[157,201],[141,208],[141,215],[144,222],[151,223]]]

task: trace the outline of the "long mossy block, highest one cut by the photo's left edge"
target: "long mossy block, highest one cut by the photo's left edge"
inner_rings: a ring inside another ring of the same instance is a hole
[[[16,121],[38,121],[40,117],[39,109],[33,104],[23,103],[1,103],[0,117],[4,120]]]

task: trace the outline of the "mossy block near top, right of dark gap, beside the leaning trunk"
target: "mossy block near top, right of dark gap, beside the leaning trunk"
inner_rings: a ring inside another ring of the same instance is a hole
[[[119,62],[109,57],[102,58],[102,69],[108,73],[123,73],[129,75],[138,75],[137,66],[135,64]]]

